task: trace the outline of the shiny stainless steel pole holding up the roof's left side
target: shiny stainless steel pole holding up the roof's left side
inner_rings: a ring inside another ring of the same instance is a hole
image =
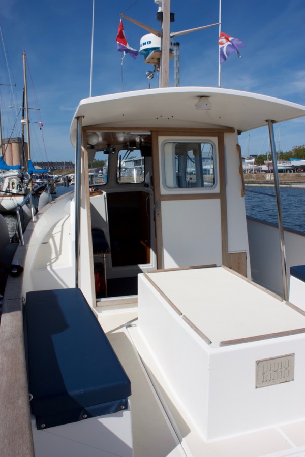
[[[75,287],[79,287],[82,116],[76,118],[75,151]]]

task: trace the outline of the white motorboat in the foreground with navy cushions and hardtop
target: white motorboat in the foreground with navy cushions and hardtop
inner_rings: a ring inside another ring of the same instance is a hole
[[[74,192],[33,217],[6,286],[4,455],[304,453],[304,235],[279,194],[279,227],[247,220],[238,145],[267,123],[276,160],[273,123],[304,115],[211,87],[79,103]]]

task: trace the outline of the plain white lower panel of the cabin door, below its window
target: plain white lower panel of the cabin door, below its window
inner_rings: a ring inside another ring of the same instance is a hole
[[[219,199],[161,202],[164,268],[222,265]]]

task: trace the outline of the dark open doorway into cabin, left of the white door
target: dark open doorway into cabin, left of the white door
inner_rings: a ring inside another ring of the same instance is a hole
[[[105,149],[106,156],[96,154],[103,163],[90,182],[92,229],[106,246],[93,249],[98,301],[137,295],[138,274],[157,267],[151,149]]]

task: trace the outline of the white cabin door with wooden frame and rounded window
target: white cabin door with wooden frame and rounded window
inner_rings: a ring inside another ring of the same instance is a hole
[[[228,266],[222,132],[154,132],[158,269]]]

